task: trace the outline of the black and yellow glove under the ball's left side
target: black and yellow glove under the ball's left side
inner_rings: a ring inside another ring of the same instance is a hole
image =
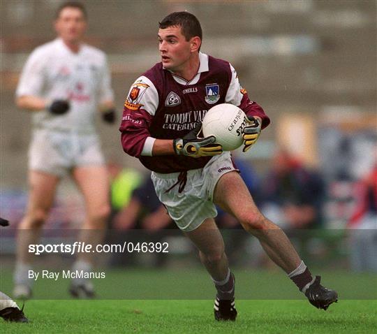
[[[198,133],[201,129],[202,124],[199,123],[198,126],[187,133],[184,138],[173,140],[175,153],[193,158],[213,157],[214,155],[223,153],[223,147],[220,144],[214,143],[216,141],[215,136],[198,138]]]

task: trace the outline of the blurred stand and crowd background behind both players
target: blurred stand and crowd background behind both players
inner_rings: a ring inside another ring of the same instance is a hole
[[[15,87],[30,52],[54,38],[61,2],[0,3],[0,209],[13,227],[27,200],[31,134],[29,113],[15,107]],[[376,1],[81,2],[89,16],[87,42],[108,55],[119,124],[133,80],[159,61],[158,21],[179,10],[196,15],[202,52],[230,61],[272,119],[252,150],[235,152],[259,207],[286,229],[308,262],[377,271]],[[175,226],[156,200],[148,171],[122,151],[117,126],[98,122],[98,129],[112,182],[109,228],[155,231],[155,240],[170,238],[177,252],[190,252],[179,233],[169,235]],[[46,227],[79,228],[83,210],[74,184],[62,182]],[[232,217],[220,212],[219,226],[235,261],[259,254]],[[13,232],[2,237],[10,254]],[[109,233],[108,240],[115,239]],[[123,260],[110,263],[127,264]],[[253,264],[269,266],[262,255]]]

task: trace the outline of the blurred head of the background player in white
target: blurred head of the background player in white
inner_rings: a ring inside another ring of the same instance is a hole
[[[55,21],[55,29],[66,43],[77,43],[87,29],[87,20],[79,8],[66,7]]]

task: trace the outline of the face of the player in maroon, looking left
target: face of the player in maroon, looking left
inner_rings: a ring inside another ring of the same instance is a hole
[[[181,27],[159,29],[158,44],[163,66],[170,71],[182,71],[191,57],[191,41],[186,41]]]

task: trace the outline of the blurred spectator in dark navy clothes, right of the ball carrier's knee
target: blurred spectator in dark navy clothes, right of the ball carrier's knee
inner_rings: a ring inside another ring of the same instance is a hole
[[[274,155],[262,186],[263,213],[287,231],[321,226],[325,187],[319,173],[286,150]]]

